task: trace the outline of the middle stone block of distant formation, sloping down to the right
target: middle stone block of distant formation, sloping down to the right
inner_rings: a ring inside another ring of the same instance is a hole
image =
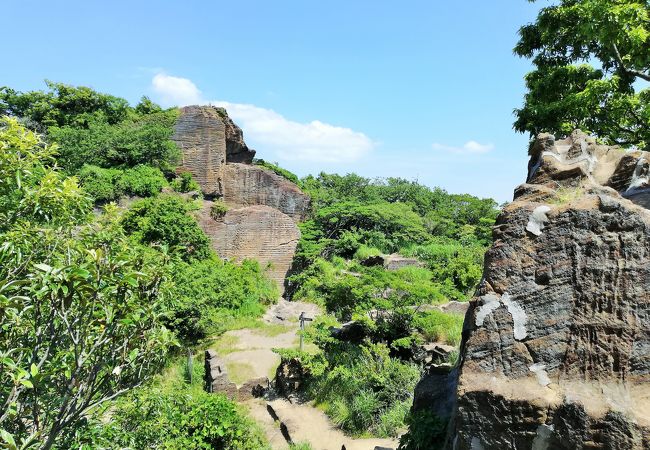
[[[309,208],[309,197],[298,186],[260,166],[227,164],[223,171],[224,201],[233,207],[266,205],[298,221]]]

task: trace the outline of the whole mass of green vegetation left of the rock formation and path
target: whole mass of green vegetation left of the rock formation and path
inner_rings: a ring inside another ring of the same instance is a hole
[[[48,87],[0,95],[22,122],[0,122],[1,446],[264,448],[234,403],[173,369],[278,296],[256,262],[212,252],[200,198],[160,194],[197,188],[170,171],[176,111]],[[122,195],[147,198],[93,214]]]

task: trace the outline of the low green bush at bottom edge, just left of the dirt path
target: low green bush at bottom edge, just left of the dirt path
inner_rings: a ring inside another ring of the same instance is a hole
[[[261,430],[235,402],[203,390],[200,358],[191,383],[181,365],[117,401],[110,422],[93,417],[68,448],[268,449]]]

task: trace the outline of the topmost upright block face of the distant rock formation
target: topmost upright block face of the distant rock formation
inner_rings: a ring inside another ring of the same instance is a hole
[[[223,195],[221,168],[226,164],[226,127],[217,109],[181,108],[172,140],[181,150],[179,170],[189,171],[208,197]]]

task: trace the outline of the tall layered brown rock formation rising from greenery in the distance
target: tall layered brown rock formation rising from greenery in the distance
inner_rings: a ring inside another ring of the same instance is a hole
[[[181,108],[172,139],[182,152],[181,171],[189,171],[207,200],[199,223],[221,257],[256,259],[268,266],[280,288],[300,239],[296,222],[304,218],[309,197],[294,183],[252,165],[254,150],[223,108]],[[210,214],[214,199],[230,210]]]

